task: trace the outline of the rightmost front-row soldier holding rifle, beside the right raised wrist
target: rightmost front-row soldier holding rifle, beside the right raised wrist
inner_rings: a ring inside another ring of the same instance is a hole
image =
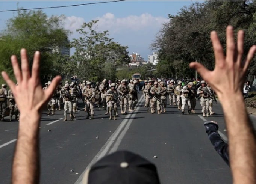
[[[201,87],[198,88],[197,94],[201,96],[200,98],[200,104],[202,107],[203,116],[209,116],[209,98],[210,95],[206,92],[206,82],[204,80],[201,81]]]

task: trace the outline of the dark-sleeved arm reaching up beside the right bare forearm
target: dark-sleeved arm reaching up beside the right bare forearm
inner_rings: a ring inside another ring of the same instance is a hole
[[[218,125],[214,123],[205,123],[206,133],[214,146],[215,151],[221,156],[221,158],[229,166],[229,145],[221,139],[220,134],[218,134]]]

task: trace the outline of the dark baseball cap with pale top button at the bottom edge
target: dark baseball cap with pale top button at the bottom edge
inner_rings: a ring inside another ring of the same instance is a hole
[[[140,155],[117,151],[86,170],[85,184],[160,184],[155,165]]]

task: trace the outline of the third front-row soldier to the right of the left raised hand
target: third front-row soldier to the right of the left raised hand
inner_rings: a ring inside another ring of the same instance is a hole
[[[109,120],[112,120],[112,109],[114,107],[114,116],[113,119],[116,120],[115,116],[117,113],[117,101],[118,101],[118,93],[115,89],[115,83],[111,83],[111,89],[109,89],[106,93],[106,99],[109,106]]]

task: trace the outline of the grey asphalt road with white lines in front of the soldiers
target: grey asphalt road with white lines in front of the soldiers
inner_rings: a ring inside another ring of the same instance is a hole
[[[229,167],[214,151],[203,125],[206,120],[217,121],[221,136],[227,139],[219,103],[214,103],[216,115],[211,117],[201,116],[199,101],[195,115],[182,115],[177,106],[168,106],[166,113],[158,115],[148,113],[139,98],[137,110],[119,115],[116,121],[110,121],[99,108],[95,119],[87,120],[79,105],[75,121],[64,122],[63,110],[42,115],[41,184],[79,184],[86,167],[124,149],[155,163],[162,184],[232,183]],[[256,116],[250,117],[255,125]],[[0,122],[0,184],[11,181],[17,130],[18,122]]]

